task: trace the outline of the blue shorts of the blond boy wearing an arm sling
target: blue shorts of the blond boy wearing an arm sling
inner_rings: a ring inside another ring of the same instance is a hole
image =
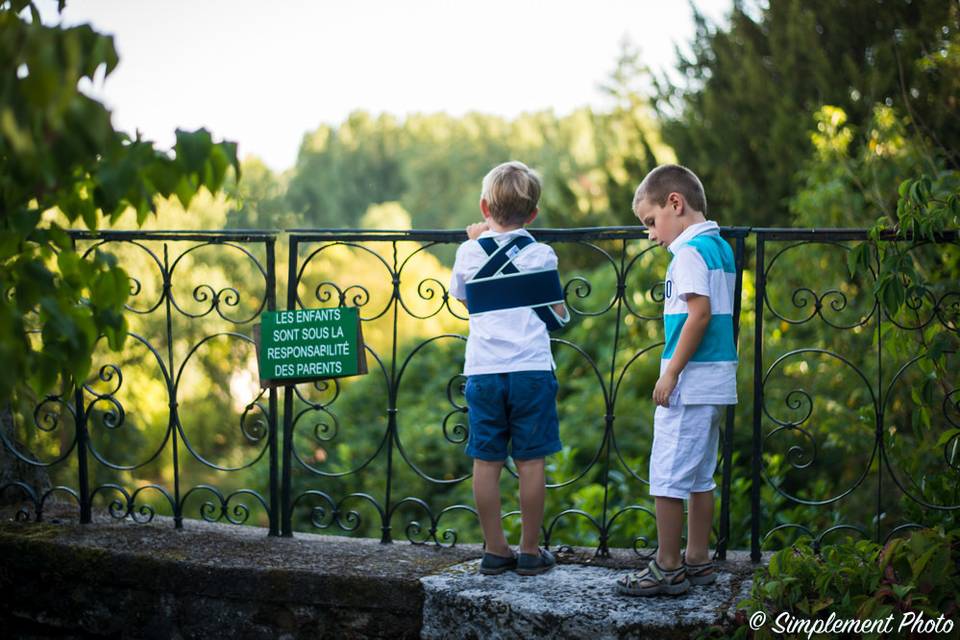
[[[469,376],[467,455],[502,462],[507,455],[536,460],[560,451],[557,388],[553,371]]]

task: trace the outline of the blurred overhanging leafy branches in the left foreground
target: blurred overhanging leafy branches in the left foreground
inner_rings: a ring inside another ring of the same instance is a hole
[[[19,383],[43,394],[83,379],[98,336],[118,348],[127,332],[126,273],[106,253],[76,253],[45,212],[95,230],[132,209],[142,224],[157,196],[186,207],[239,169],[236,145],[203,129],[177,131],[172,155],[115,131],[78,85],[117,62],[89,25],[45,26],[31,2],[0,3],[0,403]]]

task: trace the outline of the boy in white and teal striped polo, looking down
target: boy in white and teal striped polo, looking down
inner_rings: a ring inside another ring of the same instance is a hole
[[[673,258],[664,282],[665,344],[653,390],[650,495],[657,512],[657,557],[624,576],[629,595],[679,594],[716,579],[710,560],[713,473],[720,418],[737,402],[733,340],[736,268],[717,223],[706,219],[699,178],[661,165],[637,187],[633,211],[651,240]],[[683,501],[689,500],[687,549],[680,554]]]

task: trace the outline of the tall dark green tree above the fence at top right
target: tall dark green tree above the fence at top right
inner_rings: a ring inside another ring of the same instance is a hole
[[[797,172],[815,150],[810,114],[823,105],[854,127],[875,105],[892,107],[956,167],[958,29],[960,8],[940,0],[734,3],[726,27],[698,18],[692,54],[679,63],[686,84],[659,82],[664,139],[728,224],[785,226]]]

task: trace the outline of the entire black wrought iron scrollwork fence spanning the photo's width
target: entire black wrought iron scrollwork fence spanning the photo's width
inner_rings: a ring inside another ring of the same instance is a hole
[[[753,323],[754,341],[739,340],[740,405],[728,409],[721,440],[718,554],[749,538],[756,559],[764,545],[796,532],[818,542],[836,531],[883,539],[960,508],[956,436],[935,447],[944,464],[933,489],[930,474],[916,477],[916,461],[901,455],[960,428],[955,371],[943,371],[930,391],[929,367],[920,364],[931,359],[922,343],[934,327],[957,332],[957,283],[909,301],[915,317],[906,322],[885,316],[872,284],[829,259],[845,255],[863,231],[722,233],[736,257],[735,326],[739,333],[741,297],[752,301],[742,319]],[[649,389],[659,372],[667,258],[636,227],[536,236],[557,251],[574,316],[552,339],[569,446],[548,467],[544,541],[649,553]],[[131,273],[125,351],[104,348],[92,380],[16,412],[14,437],[0,434],[21,463],[50,470],[55,481],[0,487],[23,496],[20,517],[42,519],[48,498],[65,494],[82,522],[102,505],[117,519],[169,513],[178,527],[194,515],[235,523],[252,516],[284,536],[320,529],[390,542],[402,528],[414,543],[454,544],[458,528],[477,530],[462,452],[466,310],[446,281],[462,232],[294,230],[279,247],[272,232],[74,238],[85,251],[110,250],[121,264],[126,257],[151,272]],[[756,242],[762,268],[753,291],[742,292],[747,241]],[[768,258],[776,243],[786,246]],[[956,250],[956,236],[935,246],[935,255]],[[285,277],[277,248],[286,253]],[[358,307],[370,373],[286,387],[281,414],[278,392],[256,385],[250,335],[284,287],[287,309]],[[865,306],[856,311],[855,301]],[[919,335],[920,349],[891,365],[904,343],[893,329]],[[921,398],[927,414],[911,413],[897,395],[916,389],[942,396],[939,431],[928,426],[933,403]],[[841,390],[848,397],[837,397]],[[906,431],[897,421],[914,414],[922,424],[908,425],[912,440],[890,431]],[[752,432],[742,428],[751,423]],[[904,464],[914,476],[905,479]],[[735,477],[734,469],[743,472]],[[849,486],[837,489],[834,480]],[[890,480],[896,492],[884,490]],[[901,496],[922,513],[903,507]],[[896,522],[894,507],[903,511]],[[516,509],[504,521],[516,527]]]

